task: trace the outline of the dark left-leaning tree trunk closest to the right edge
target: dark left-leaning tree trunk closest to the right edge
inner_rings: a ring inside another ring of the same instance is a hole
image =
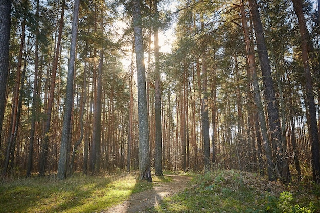
[[[312,177],[313,181],[320,183],[320,152],[319,152],[319,136],[318,136],[318,126],[316,117],[316,106],[314,102],[313,93],[313,82],[309,66],[308,57],[308,44],[307,36],[308,32],[305,28],[305,17],[302,10],[301,0],[292,0],[293,7],[296,15],[298,16],[299,30],[300,30],[300,45],[301,45],[301,56],[304,68],[304,77],[306,81],[306,104],[309,108],[310,114],[310,141],[311,141],[311,153],[312,153]]]

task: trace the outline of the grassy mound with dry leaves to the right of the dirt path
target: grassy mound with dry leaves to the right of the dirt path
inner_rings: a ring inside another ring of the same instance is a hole
[[[148,212],[320,212],[320,186],[283,185],[254,173],[219,170],[197,175],[184,192]]]

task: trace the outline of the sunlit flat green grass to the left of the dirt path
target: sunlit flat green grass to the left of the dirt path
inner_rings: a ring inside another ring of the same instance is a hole
[[[152,184],[131,175],[18,179],[0,185],[0,212],[99,212]]]

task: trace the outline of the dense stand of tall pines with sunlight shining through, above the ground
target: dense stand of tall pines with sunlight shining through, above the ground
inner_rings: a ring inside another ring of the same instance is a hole
[[[0,1],[4,177],[226,168],[320,182],[315,1],[77,4]]]

